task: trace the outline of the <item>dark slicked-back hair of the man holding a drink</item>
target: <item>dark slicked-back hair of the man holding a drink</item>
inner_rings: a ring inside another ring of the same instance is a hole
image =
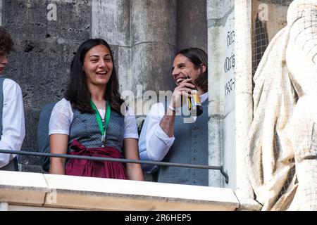
[[[204,73],[199,75],[197,79],[195,79],[194,84],[199,86],[203,91],[208,91],[208,56],[207,53],[198,48],[190,48],[190,49],[182,49],[180,50],[176,56],[178,55],[185,56],[192,63],[194,63],[195,68],[201,68],[201,64],[206,66],[206,70]]]

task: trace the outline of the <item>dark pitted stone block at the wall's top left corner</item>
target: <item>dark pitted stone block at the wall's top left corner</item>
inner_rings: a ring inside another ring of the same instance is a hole
[[[89,0],[3,0],[4,26],[25,39],[63,38],[82,41],[89,37]],[[56,20],[49,20],[49,4],[56,6]]]

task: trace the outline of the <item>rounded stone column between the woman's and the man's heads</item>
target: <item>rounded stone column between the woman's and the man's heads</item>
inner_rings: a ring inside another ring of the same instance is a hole
[[[171,67],[176,51],[176,0],[131,1],[132,89],[137,99],[144,91],[171,90]],[[137,101],[137,116],[142,101]]]

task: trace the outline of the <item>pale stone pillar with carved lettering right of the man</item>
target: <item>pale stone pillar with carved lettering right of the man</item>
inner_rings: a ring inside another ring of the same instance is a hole
[[[207,1],[209,165],[223,165],[229,184],[209,170],[209,186],[235,189],[235,30],[233,1]]]

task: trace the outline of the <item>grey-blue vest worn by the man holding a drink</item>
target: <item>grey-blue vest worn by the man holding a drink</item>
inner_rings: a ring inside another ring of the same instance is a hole
[[[184,123],[184,116],[175,117],[175,141],[164,162],[208,165],[208,101],[204,101],[203,114],[194,123]],[[186,114],[187,115],[187,114]],[[160,167],[159,182],[209,186],[208,169]]]

